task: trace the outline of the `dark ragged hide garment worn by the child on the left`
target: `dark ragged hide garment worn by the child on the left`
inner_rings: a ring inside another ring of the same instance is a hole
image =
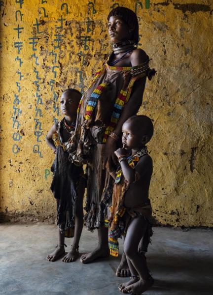
[[[54,175],[50,188],[57,199],[57,225],[61,232],[74,227],[77,184],[84,175],[82,166],[75,166],[68,158],[69,153],[58,146],[51,167]]]

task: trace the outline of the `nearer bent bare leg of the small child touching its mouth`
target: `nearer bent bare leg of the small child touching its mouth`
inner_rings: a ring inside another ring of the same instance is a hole
[[[143,216],[135,217],[127,230],[124,242],[124,252],[127,256],[127,262],[132,276],[139,275],[140,280],[125,288],[128,293],[141,294],[153,285],[153,279],[150,277],[146,258],[138,252],[138,246],[147,230],[147,221]]]

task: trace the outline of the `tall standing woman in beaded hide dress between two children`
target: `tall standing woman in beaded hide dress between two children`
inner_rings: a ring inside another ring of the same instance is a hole
[[[71,160],[75,164],[88,164],[86,228],[98,229],[99,238],[98,247],[81,256],[82,263],[109,255],[104,211],[111,197],[110,173],[117,163],[114,151],[119,145],[123,123],[137,114],[142,105],[146,76],[151,79],[155,73],[149,69],[146,53],[137,48],[136,14],[128,8],[116,7],[107,20],[113,51],[82,96],[71,139]],[[117,275],[125,268],[124,258]],[[122,276],[127,275],[128,272]]]

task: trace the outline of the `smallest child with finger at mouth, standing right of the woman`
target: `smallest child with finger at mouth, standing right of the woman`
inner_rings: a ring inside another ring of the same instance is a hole
[[[125,236],[124,253],[132,277],[119,286],[119,291],[142,294],[154,282],[144,256],[152,235],[152,210],[148,198],[152,159],[145,145],[153,135],[153,124],[146,116],[133,116],[124,122],[122,132],[123,148],[114,152],[120,166],[116,172],[109,167],[115,179],[110,208],[109,248],[111,255],[118,256],[117,238]],[[143,250],[139,253],[141,239]]]

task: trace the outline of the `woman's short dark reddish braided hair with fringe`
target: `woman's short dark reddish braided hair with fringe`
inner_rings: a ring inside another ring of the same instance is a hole
[[[107,20],[109,20],[111,16],[120,17],[128,25],[129,28],[134,28],[132,31],[132,39],[135,41],[136,44],[138,44],[139,23],[138,23],[138,18],[135,12],[129,8],[118,6],[109,12]]]

